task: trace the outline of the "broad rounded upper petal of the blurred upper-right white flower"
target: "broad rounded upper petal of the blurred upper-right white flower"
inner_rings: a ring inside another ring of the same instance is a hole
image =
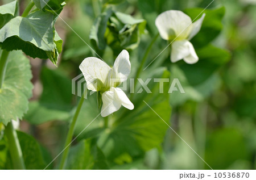
[[[171,40],[176,36],[179,40],[187,39],[192,30],[191,18],[177,10],[165,11],[160,14],[155,20],[155,25],[164,40]]]

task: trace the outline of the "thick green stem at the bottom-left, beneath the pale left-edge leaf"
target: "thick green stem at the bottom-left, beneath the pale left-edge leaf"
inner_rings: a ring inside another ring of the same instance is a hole
[[[22,157],[22,150],[19,145],[19,140],[13,123],[7,124],[5,128],[5,134],[8,139],[9,150],[11,154],[11,160],[13,162],[14,169],[26,169]]]

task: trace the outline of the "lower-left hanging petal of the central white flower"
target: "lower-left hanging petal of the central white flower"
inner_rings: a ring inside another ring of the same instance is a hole
[[[118,111],[122,102],[116,98],[113,88],[102,94],[101,116],[106,117],[115,111]]]

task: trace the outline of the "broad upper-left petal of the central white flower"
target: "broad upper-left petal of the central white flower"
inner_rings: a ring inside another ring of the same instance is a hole
[[[88,57],[82,61],[79,68],[84,75],[89,90],[100,91],[102,85],[107,85],[111,68],[104,61],[96,57]]]

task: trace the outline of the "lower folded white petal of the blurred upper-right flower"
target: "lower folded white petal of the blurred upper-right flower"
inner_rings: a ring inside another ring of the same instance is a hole
[[[188,40],[172,43],[171,61],[177,62],[182,59],[188,64],[194,64],[199,60],[193,45]]]

